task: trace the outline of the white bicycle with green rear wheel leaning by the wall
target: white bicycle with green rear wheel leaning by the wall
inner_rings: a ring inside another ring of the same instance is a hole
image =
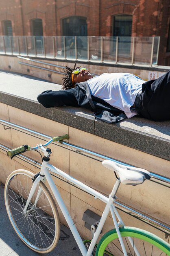
[[[170,255],[170,245],[161,238],[142,229],[126,227],[114,206],[114,201],[117,199],[116,192],[121,182],[128,185],[142,184],[146,179],[150,179],[150,173],[141,168],[128,167],[104,160],[102,164],[114,171],[117,177],[111,194],[106,197],[49,164],[52,152],[50,148],[46,149],[46,147],[51,142],[63,139],[68,139],[68,135],[54,137],[46,144],[39,144],[34,148],[24,145],[7,152],[11,158],[24,153],[26,150],[39,150],[44,154],[39,173],[34,175],[30,171],[16,170],[9,175],[5,184],[4,197],[7,213],[20,239],[29,248],[39,253],[52,251],[58,243],[60,234],[59,214],[53,196],[45,185],[48,182],[83,256]],[[92,235],[92,240],[82,241],[49,171],[106,203],[100,221],[94,223],[96,231]],[[115,229],[107,232],[96,245],[109,211]]]

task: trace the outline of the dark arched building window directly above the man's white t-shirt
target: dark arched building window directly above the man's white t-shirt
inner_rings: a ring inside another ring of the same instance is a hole
[[[113,17],[113,36],[131,36],[132,15],[116,15]]]

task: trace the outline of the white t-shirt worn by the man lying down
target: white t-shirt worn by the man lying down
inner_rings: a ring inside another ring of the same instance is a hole
[[[104,73],[87,81],[91,94],[118,108],[128,118],[137,115],[130,109],[145,81],[129,73]]]

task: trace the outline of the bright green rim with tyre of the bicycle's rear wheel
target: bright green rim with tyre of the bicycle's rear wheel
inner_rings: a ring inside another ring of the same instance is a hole
[[[119,229],[121,232],[121,236],[130,236],[139,238],[141,240],[144,240],[150,244],[155,245],[157,248],[165,252],[168,256],[170,256],[170,245],[166,243],[163,239],[155,236],[154,234],[142,230],[137,229],[133,227],[124,227]],[[112,229],[109,232],[107,232],[100,240],[98,247],[96,249],[96,256],[102,256],[105,248],[107,245],[111,242],[111,240],[114,240],[118,238],[118,234],[116,232],[116,229]]]

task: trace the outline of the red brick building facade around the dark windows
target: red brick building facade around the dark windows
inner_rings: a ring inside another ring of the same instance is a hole
[[[11,20],[13,35],[31,35],[31,20],[41,18],[44,36],[62,36],[62,19],[87,18],[88,36],[112,36],[113,16],[133,16],[132,36],[161,36],[159,64],[170,65],[166,53],[170,23],[169,0],[1,0],[2,21]]]

